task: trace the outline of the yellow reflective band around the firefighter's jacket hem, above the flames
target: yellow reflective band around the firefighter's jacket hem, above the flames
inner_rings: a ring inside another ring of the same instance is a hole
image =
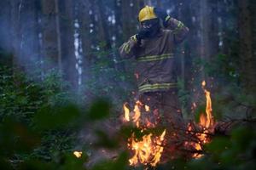
[[[177,83],[155,83],[155,84],[145,84],[139,87],[139,92],[150,92],[160,89],[170,89],[176,88]]]

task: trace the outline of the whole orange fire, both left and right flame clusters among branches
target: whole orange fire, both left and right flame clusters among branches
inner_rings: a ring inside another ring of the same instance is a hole
[[[193,158],[200,158],[203,156],[203,144],[211,141],[210,133],[213,133],[214,120],[212,116],[212,99],[211,93],[206,89],[207,82],[201,82],[202,89],[205,93],[207,105],[205,113],[201,113],[198,124],[189,123],[185,135],[190,139],[184,142],[184,146],[189,150],[195,151],[192,154]],[[197,107],[195,103],[192,105],[193,109]],[[156,127],[157,122],[148,118],[147,114],[151,113],[148,105],[143,105],[142,102],[137,101],[132,111],[129,110],[127,103],[123,106],[125,111],[125,121],[133,122],[141,132],[145,132],[149,127]],[[151,121],[150,121],[151,120]],[[166,130],[160,135],[154,133],[147,133],[143,135],[142,139],[137,139],[135,133],[132,133],[131,138],[128,139],[128,148],[132,151],[131,159],[129,159],[131,166],[139,164],[150,165],[155,167],[159,162],[166,144]]]

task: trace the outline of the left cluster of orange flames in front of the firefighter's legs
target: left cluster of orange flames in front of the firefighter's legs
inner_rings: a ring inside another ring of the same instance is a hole
[[[136,124],[137,127],[140,126],[140,118],[141,118],[141,108],[143,108],[143,104],[140,101],[137,101],[133,111],[132,122]],[[145,111],[149,112],[150,108],[148,105],[144,105]],[[128,109],[127,105],[124,105],[125,111],[125,120],[130,121],[130,110]],[[146,129],[147,127],[154,127],[153,122],[149,122],[146,119]],[[143,130],[141,131],[143,133]],[[131,166],[137,166],[139,163],[143,165],[151,165],[155,167],[157,163],[160,161],[161,154],[164,150],[163,141],[165,139],[166,130],[160,134],[160,136],[155,136],[153,133],[143,135],[142,139],[137,139],[135,134],[131,135],[131,138],[128,139],[128,147],[133,150],[133,156],[129,159]]]

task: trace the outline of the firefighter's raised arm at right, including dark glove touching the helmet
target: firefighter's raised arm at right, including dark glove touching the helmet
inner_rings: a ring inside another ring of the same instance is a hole
[[[160,8],[154,8],[154,13],[163,20],[163,25],[166,29],[172,30],[174,41],[176,43],[183,42],[185,37],[189,33],[189,28],[184,26],[183,22],[172,18],[170,15],[166,14],[166,11]]]

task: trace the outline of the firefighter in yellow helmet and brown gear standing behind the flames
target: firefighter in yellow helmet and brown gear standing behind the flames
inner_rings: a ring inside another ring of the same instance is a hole
[[[119,53],[137,61],[135,75],[140,101],[175,126],[183,121],[173,50],[183,42],[189,28],[163,9],[149,6],[140,10],[138,20],[140,30],[119,48]]]

